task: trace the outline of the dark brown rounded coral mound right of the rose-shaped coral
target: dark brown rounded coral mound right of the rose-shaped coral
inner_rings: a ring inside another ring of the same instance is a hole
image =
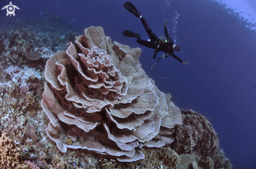
[[[182,113],[182,125],[176,128],[174,149],[178,154],[191,154],[197,162],[214,158],[219,149],[219,138],[209,121],[192,110]]]

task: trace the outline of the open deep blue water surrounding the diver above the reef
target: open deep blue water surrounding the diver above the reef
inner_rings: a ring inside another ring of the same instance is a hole
[[[169,20],[170,37],[181,46],[175,54],[191,61],[183,65],[168,57],[151,70],[156,61],[152,59],[154,50],[122,34],[130,30],[148,39],[140,19],[123,7],[125,2],[12,1],[20,10],[15,9],[15,17],[6,17],[6,10],[1,10],[0,27],[10,19],[37,18],[51,11],[61,22],[80,28],[81,34],[85,28],[101,26],[112,41],[140,47],[140,63],[146,74],[160,91],[171,93],[175,105],[192,108],[210,120],[220,148],[235,164],[233,168],[256,168],[256,35],[254,20],[249,22],[253,17],[256,20],[255,3],[243,2],[250,6],[252,13],[247,14],[249,8],[243,6],[240,13],[237,1],[131,1],[157,36],[164,37],[163,23]],[[8,4],[0,2],[1,8]]]

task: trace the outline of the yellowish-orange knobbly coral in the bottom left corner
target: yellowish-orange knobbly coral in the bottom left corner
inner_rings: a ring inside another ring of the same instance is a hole
[[[6,133],[0,138],[0,168],[28,169],[28,166],[19,162],[20,154],[15,149],[15,144],[6,137]]]

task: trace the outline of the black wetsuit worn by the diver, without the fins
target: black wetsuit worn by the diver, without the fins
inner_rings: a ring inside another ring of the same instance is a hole
[[[155,49],[153,58],[155,58],[155,56],[157,55],[157,52],[162,51],[162,52],[165,52],[165,54],[166,54],[165,57],[168,57],[169,55],[171,55],[173,58],[175,58],[178,61],[180,61],[181,63],[183,63],[183,61],[179,57],[177,57],[175,54],[173,54],[173,52],[174,52],[173,45],[174,44],[173,44],[172,39],[169,37],[166,26],[164,26],[164,33],[165,33],[165,37],[168,40],[168,42],[164,42],[161,39],[159,39],[157,37],[157,35],[155,35],[153,33],[153,31],[149,28],[147,21],[143,17],[140,17],[140,19],[142,21],[144,28],[146,29],[146,31],[149,35],[150,41],[145,41],[145,40],[141,40],[140,38],[137,38],[137,42],[143,46],[149,47],[151,49]],[[158,45],[159,45],[159,47],[158,47]]]

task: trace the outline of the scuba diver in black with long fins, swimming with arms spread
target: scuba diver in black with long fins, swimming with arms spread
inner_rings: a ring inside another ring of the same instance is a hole
[[[137,43],[149,47],[151,49],[154,49],[154,56],[153,59],[157,56],[157,53],[162,51],[165,52],[165,54],[162,55],[162,57],[157,58],[158,61],[155,62],[158,63],[160,61],[161,58],[166,58],[169,56],[172,56],[173,58],[177,59],[178,61],[180,61],[182,64],[187,64],[188,62],[183,62],[182,59],[180,59],[179,57],[177,57],[175,54],[173,54],[174,51],[180,51],[180,46],[179,45],[175,45],[172,41],[172,39],[169,37],[167,28],[166,28],[166,23],[167,21],[164,22],[164,33],[165,33],[165,38],[163,37],[157,37],[157,35],[154,34],[154,32],[149,28],[147,21],[141,16],[141,14],[138,12],[138,10],[136,9],[136,7],[134,5],[132,5],[130,2],[126,2],[124,4],[124,7],[132,14],[134,14],[137,18],[140,18],[144,28],[146,29],[148,35],[149,35],[149,40],[145,41],[145,40],[141,40],[140,39],[140,35],[138,33],[133,33],[131,31],[127,31],[125,30],[123,32],[123,35],[125,37],[135,37],[137,38]],[[154,64],[154,65],[155,65]],[[152,65],[152,70],[154,69]]]

